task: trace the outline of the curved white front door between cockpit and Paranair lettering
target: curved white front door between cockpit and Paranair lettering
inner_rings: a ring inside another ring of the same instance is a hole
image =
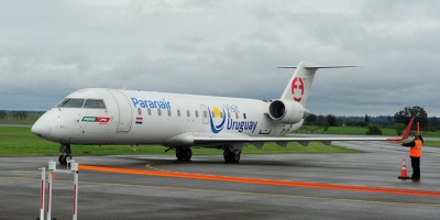
[[[131,129],[133,112],[129,99],[119,90],[110,90],[110,94],[117,100],[119,109],[118,132],[128,132]]]

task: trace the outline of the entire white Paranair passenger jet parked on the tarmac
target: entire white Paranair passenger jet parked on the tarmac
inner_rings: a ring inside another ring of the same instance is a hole
[[[319,66],[300,62],[283,95],[273,100],[196,96],[156,91],[86,88],[68,95],[32,127],[37,136],[61,144],[61,164],[72,158],[72,144],[161,144],[174,150],[178,161],[189,161],[191,147],[223,150],[227,163],[239,163],[246,144],[262,148],[265,142],[286,146],[318,141],[403,141],[402,138],[297,138],[311,112],[306,102]]]

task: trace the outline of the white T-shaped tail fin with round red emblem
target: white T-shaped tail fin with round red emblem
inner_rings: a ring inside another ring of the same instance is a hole
[[[278,68],[296,68],[294,76],[287,84],[280,99],[295,100],[306,107],[307,98],[310,92],[311,82],[319,68],[344,68],[360,66],[318,66],[311,62],[300,62],[298,66],[283,66]]]

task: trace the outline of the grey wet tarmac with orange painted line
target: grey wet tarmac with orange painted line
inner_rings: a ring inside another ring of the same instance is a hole
[[[421,180],[400,180],[408,148],[334,142],[353,154],[78,156],[78,219],[438,219],[440,148],[424,146]],[[253,147],[253,146],[248,146]],[[75,152],[75,150],[73,150]],[[195,152],[197,150],[194,150]],[[56,157],[0,157],[0,219],[40,217],[41,172]],[[58,165],[58,169],[65,166]],[[72,174],[56,174],[52,217],[73,218]],[[46,190],[47,193],[47,190]]]

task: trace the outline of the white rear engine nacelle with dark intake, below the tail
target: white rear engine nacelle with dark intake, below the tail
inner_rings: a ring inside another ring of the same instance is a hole
[[[305,117],[302,105],[289,100],[274,100],[268,106],[268,116],[287,124],[298,123]]]

